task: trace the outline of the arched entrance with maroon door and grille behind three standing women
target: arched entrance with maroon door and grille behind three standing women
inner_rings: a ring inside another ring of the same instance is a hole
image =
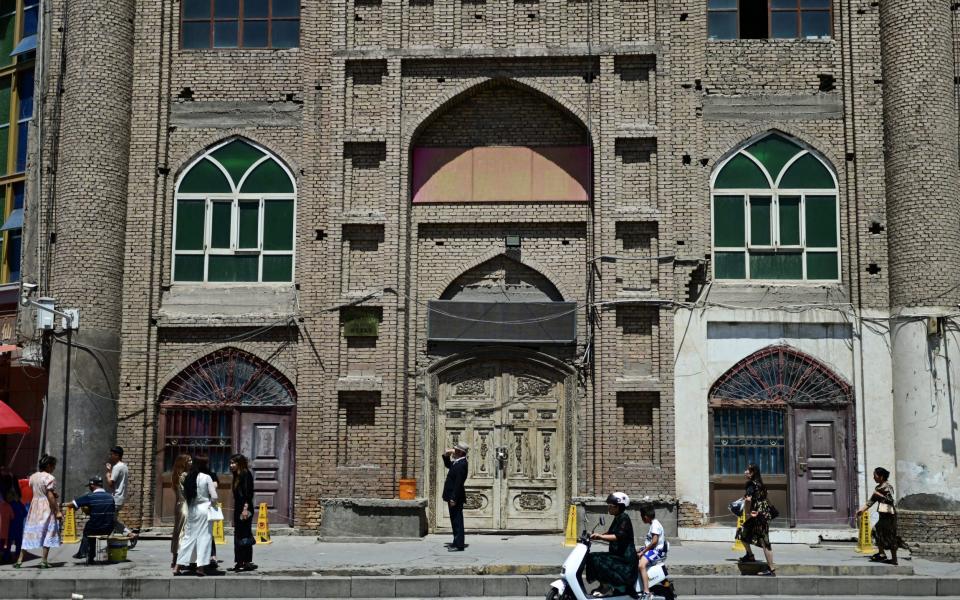
[[[205,454],[230,507],[230,456],[243,453],[254,475],[254,502],[267,504],[271,525],[293,518],[296,391],[260,358],[223,348],[190,364],[160,394],[156,519],[173,521],[171,469],[177,455]]]

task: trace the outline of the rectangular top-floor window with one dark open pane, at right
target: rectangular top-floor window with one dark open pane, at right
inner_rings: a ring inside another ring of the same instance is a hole
[[[831,0],[707,0],[711,40],[829,38]]]

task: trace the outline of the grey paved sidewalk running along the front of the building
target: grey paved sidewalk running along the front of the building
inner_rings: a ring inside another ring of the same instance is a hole
[[[447,552],[446,535],[429,535],[418,541],[387,543],[318,542],[309,536],[277,536],[270,545],[254,547],[256,571],[261,576],[348,575],[551,575],[569,554],[561,536],[468,536],[465,552]],[[729,543],[682,542],[674,544],[668,564],[677,575],[738,575],[735,553]],[[38,561],[21,570],[0,565],[7,577],[71,576],[78,578],[157,577],[170,574],[170,543],[142,540],[128,553],[128,561],[113,565],[84,566],[70,558],[77,545],[50,553],[57,568],[40,571]],[[598,549],[600,546],[598,546]],[[233,540],[218,548],[224,566],[233,562]],[[758,553],[758,556],[762,554]],[[811,547],[802,544],[774,546],[781,575],[867,576],[924,575],[960,578],[960,563],[924,559],[901,560],[899,567],[877,565],[854,552],[854,546],[835,544]]]

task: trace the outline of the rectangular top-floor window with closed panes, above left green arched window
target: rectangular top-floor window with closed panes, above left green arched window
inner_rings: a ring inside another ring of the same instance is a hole
[[[300,0],[183,0],[182,48],[296,48]]]

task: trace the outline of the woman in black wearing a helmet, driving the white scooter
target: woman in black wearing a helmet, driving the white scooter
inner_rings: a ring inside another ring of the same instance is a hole
[[[633,523],[626,513],[630,498],[623,492],[607,496],[607,512],[614,515],[606,533],[594,533],[591,540],[610,543],[609,551],[587,555],[587,581],[599,581],[610,591],[636,597],[637,547],[633,541]],[[594,596],[602,595],[594,593]]]

